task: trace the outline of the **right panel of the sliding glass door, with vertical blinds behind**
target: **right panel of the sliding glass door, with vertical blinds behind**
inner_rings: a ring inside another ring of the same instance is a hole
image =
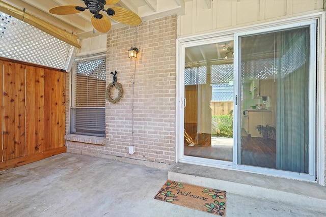
[[[237,165],[314,173],[313,32],[307,24],[238,36]]]

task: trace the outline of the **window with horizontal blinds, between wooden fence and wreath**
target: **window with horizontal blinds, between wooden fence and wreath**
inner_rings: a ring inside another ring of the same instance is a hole
[[[70,133],[105,137],[105,56],[75,59]]]

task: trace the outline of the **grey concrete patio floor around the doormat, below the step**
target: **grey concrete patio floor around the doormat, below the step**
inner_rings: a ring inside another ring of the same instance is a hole
[[[216,216],[153,199],[167,179],[166,170],[63,153],[0,172],[0,216]],[[227,193],[226,216],[326,211]]]

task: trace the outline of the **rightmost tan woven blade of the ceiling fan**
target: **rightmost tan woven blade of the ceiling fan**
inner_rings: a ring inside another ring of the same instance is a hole
[[[127,25],[140,25],[142,24],[142,19],[132,11],[121,8],[121,7],[111,7],[114,10],[115,14],[110,16],[112,19],[127,24]]]

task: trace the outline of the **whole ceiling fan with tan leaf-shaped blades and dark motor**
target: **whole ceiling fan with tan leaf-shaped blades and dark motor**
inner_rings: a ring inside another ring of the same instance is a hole
[[[67,15],[76,14],[89,9],[93,14],[92,24],[96,30],[101,33],[106,33],[111,28],[110,19],[107,16],[100,13],[100,11],[106,12],[112,19],[124,23],[127,25],[140,25],[142,19],[132,11],[121,7],[109,7],[104,9],[105,5],[114,5],[120,0],[81,0],[85,3],[86,7],[80,7],[77,5],[63,5],[51,8],[49,12],[51,14]]]

